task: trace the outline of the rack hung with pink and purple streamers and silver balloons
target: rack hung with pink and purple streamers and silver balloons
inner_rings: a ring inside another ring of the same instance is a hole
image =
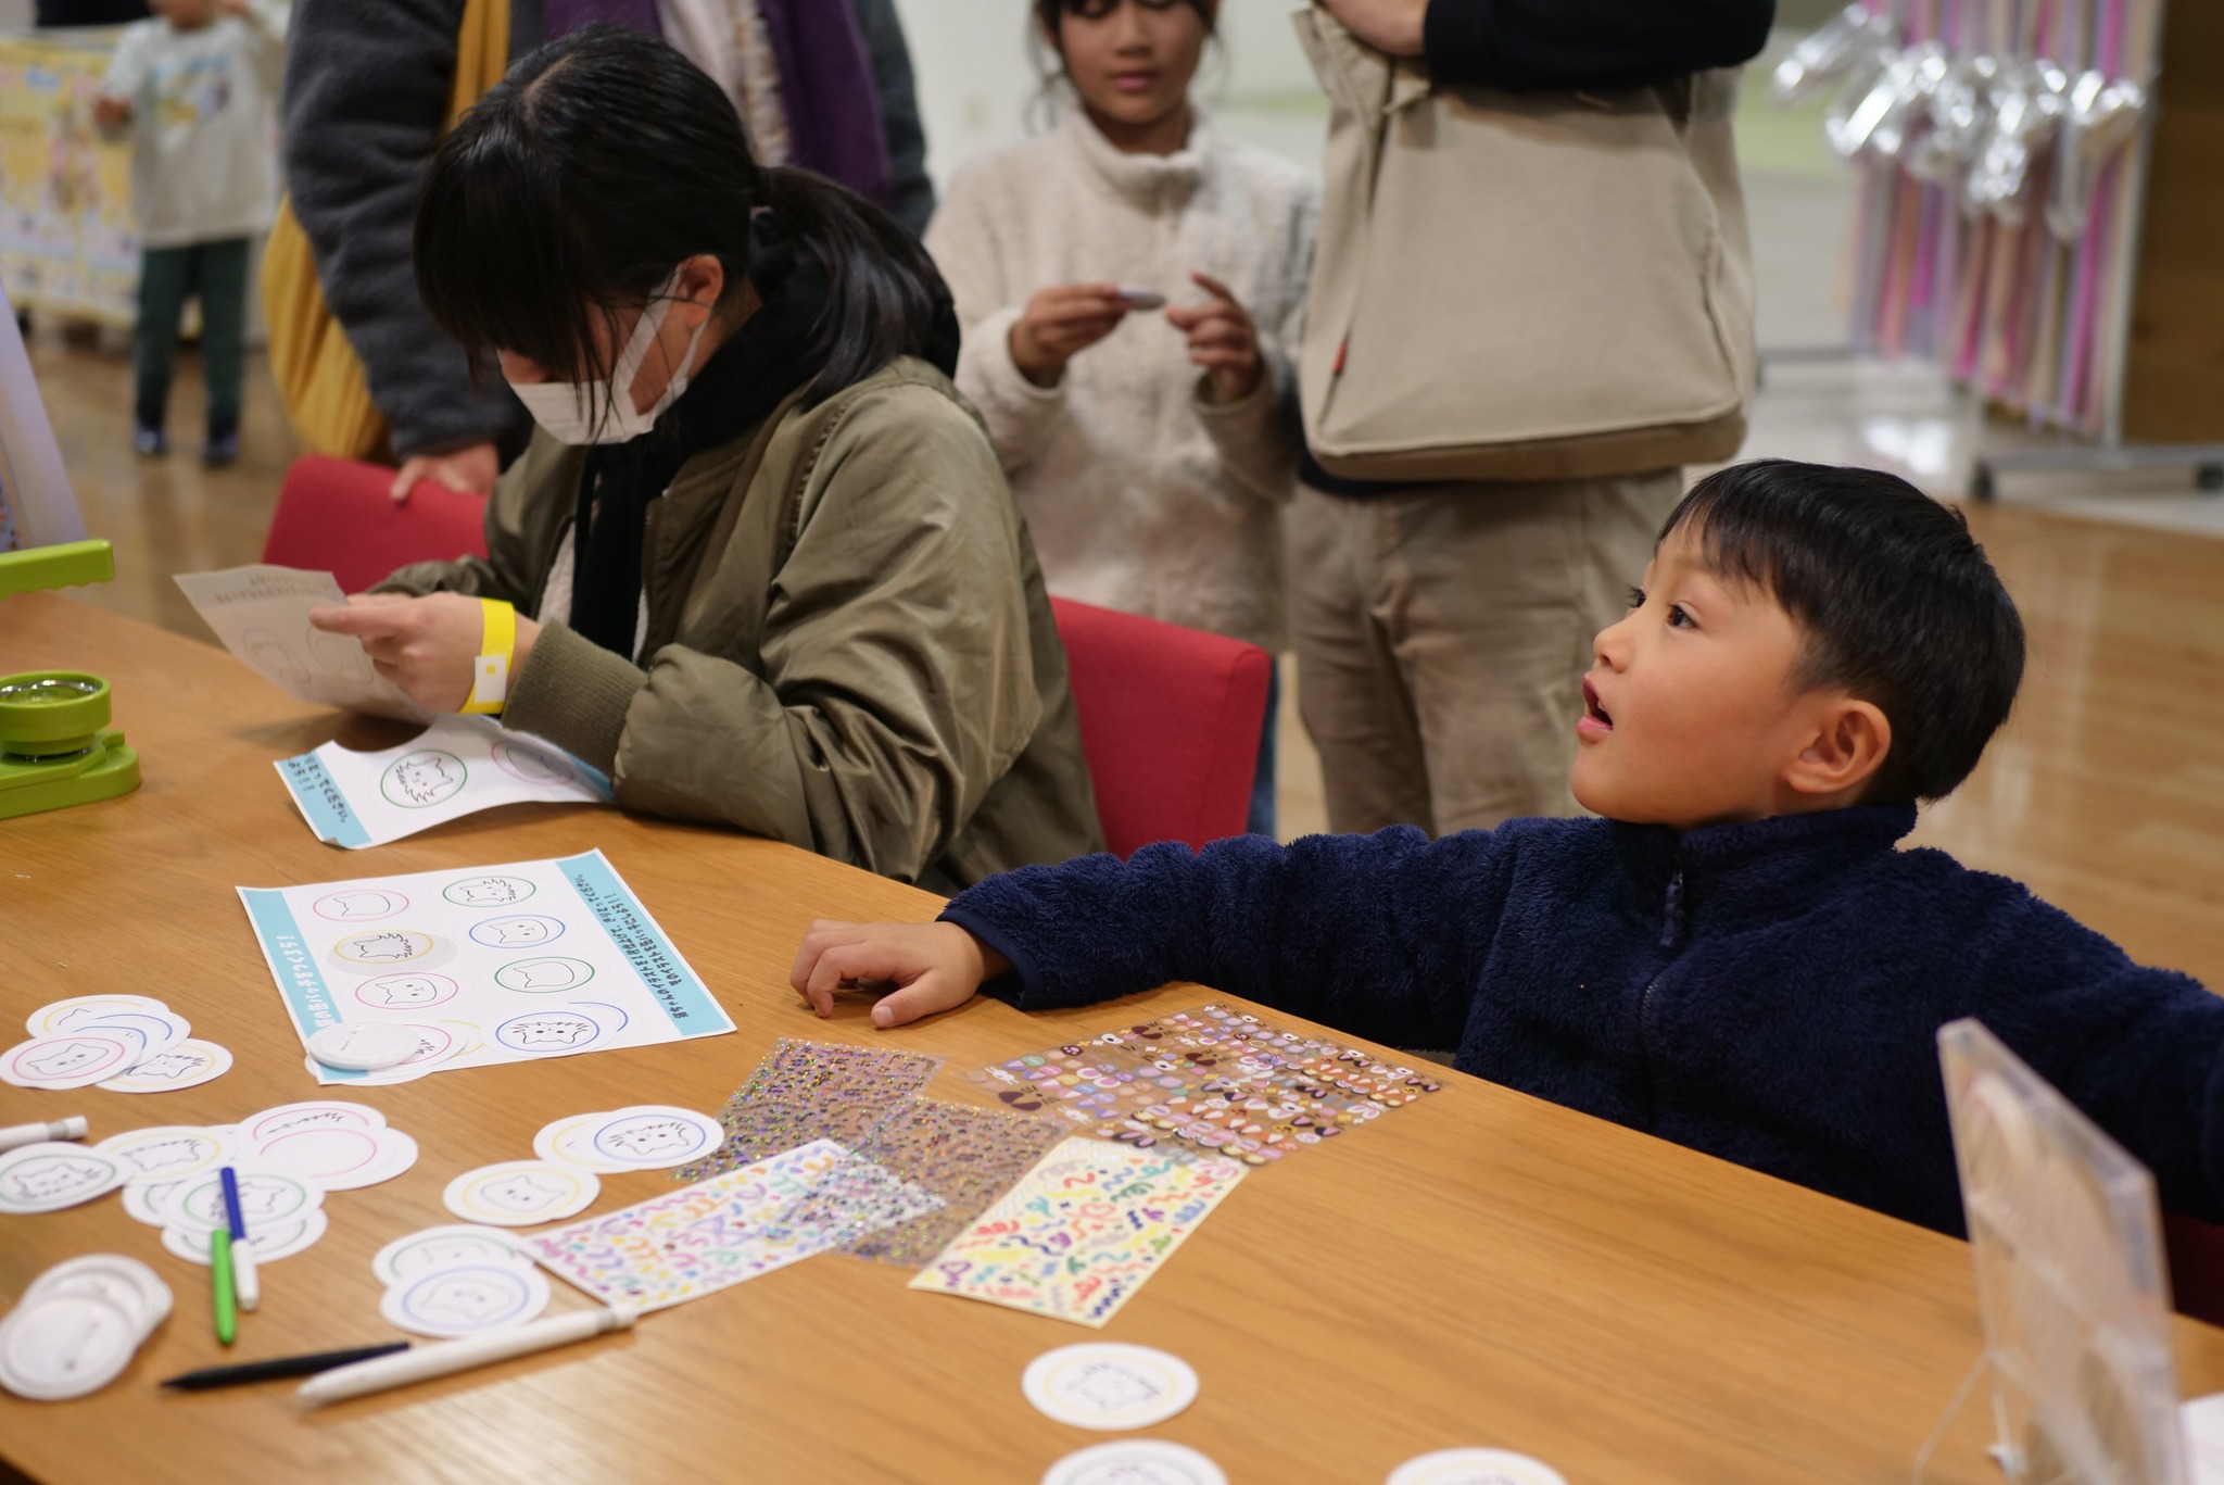
[[[2068,436],[1979,454],[1973,496],[2153,465],[2224,490],[2224,7],[1859,0],[1773,91],[1830,91],[1861,176],[1850,347]]]

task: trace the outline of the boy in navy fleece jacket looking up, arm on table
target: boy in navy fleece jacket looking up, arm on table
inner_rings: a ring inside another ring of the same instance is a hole
[[[1595,641],[1575,797],[1604,819],[1165,844],[1027,866],[936,924],[814,924],[825,1015],[1197,980],[1942,1231],[1935,1031],[1975,1015],[2220,1213],[2224,1000],[2019,884],[1895,848],[2008,715],[2015,603],[1962,517],[1868,470],[1748,463],[1668,517]]]

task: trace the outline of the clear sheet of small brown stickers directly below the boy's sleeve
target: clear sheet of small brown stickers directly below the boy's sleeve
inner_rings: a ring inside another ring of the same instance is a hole
[[[1245,1164],[1332,1140],[1441,1086],[1428,1073],[1223,1004],[1025,1053],[965,1078],[1014,1113],[1054,1113],[1136,1149],[1176,1140]]]

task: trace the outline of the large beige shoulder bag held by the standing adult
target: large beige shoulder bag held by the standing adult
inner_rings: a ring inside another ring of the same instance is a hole
[[[1737,73],[1624,94],[1432,87],[1328,11],[1321,243],[1299,383],[1343,479],[1728,459],[1753,396]]]

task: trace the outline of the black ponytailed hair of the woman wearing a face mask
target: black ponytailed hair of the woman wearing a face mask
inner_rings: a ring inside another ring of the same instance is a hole
[[[647,303],[683,260],[714,254],[743,287],[761,207],[830,278],[803,350],[816,403],[901,354],[927,354],[950,292],[925,249],[863,196],[763,167],[741,116],[663,40],[596,22],[518,60],[434,151],[418,194],[416,278],[434,323],[483,365],[525,356],[594,381],[592,323]]]

